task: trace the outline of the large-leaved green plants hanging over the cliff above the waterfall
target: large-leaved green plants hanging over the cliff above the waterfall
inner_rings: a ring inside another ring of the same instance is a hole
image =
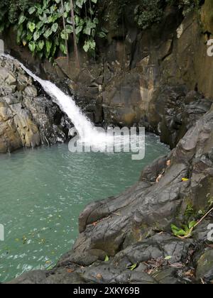
[[[53,60],[58,50],[67,54],[66,40],[73,33],[70,0],[18,0],[18,6],[13,6],[13,13],[6,9],[6,4],[13,4],[14,0],[4,0],[4,16],[0,15],[0,23],[9,16],[9,24],[15,24],[16,40],[18,44],[28,46],[33,55]],[[95,16],[97,0],[76,0],[75,24],[77,42],[82,42],[85,52],[94,52],[96,48],[95,36],[106,37],[104,31],[98,30],[99,20]],[[3,13],[1,13],[3,14]],[[17,17],[18,16],[18,17]],[[63,27],[62,16],[65,18]],[[3,30],[6,27],[2,28]]]

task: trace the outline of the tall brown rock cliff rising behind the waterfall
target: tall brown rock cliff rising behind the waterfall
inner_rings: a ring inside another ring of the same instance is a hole
[[[200,11],[185,17],[176,6],[168,6],[160,23],[146,30],[138,28],[134,19],[136,2],[121,18],[121,1],[100,1],[99,16],[108,38],[97,40],[95,60],[79,49],[80,72],[74,55],[72,72],[66,57],[58,57],[54,67],[40,63],[26,48],[17,47],[14,33],[5,37],[6,50],[40,77],[75,94],[94,123],[146,126],[175,148],[189,128],[185,105],[190,109],[194,102],[192,109],[202,114],[199,101],[213,99],[213,60],[207,55],[207,41],[213,35],[212,1],[202,1]]]

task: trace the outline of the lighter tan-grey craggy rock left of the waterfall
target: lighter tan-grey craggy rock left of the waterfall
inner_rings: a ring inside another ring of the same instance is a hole
[[[0,153],[66,140],[65,116],[17,62],[0,58]]]

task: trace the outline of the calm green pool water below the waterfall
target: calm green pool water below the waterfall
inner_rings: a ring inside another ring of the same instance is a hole
[[[89,202],[123,192],[143,167],[168,152],[146,136],[146,158],[130,153],[70,153],[67,145],[0,155],[0,282],[51,267],[72,248],[80,211]]]

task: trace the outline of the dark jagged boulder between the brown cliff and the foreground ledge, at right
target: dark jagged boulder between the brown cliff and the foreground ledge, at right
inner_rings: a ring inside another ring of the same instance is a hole
[[[155,92],[148,110],[148,123],[163,143],[175,148],[178,141],[209,111],[212,101],[187,92],[185,86],[162,87]]]

